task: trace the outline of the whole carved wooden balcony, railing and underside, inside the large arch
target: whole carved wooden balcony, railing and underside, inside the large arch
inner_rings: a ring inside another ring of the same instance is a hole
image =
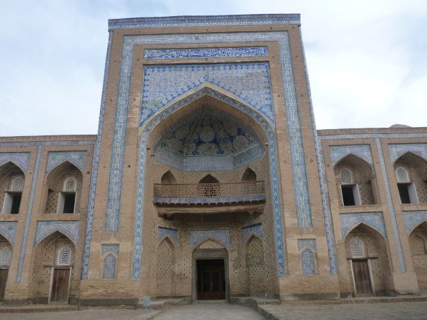
[[[199,208],[197,210],[199,213],[238,211],[262,213],[265,203],[265,181],[171,185],[155,183],[153,203],[158,206],[175,207],[171,210],[159,209],[159,215],[196,212],[188,211],[188,207]]]

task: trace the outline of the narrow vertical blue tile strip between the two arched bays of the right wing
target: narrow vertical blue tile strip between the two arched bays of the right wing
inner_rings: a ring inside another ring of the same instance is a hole
[[[375,142],[376,142],[376,147],[378,149],[378,153],[380,154],[380,166],[381,166],[381,171],[383,173],[383,180],[385,181],[385,192],[387,193],[387,204],[390,212],[390,217],[392,218],[391,220],[392,220],[392,227],[393,227],[393,233],[394,233],[394,240],[396,242],[397,256],[399,257],[401,272],[406,272],[406,264],[405,264],[405,258],[403,258],[401,236],[399,234],[399,228],[397,228],[396,212],[394,212],[392,192],[390,191],[390,185],[388,183],[389,180],[387,175],[387,168],[385,167],[383,146],[381,146],[379,137],[375,138]]]

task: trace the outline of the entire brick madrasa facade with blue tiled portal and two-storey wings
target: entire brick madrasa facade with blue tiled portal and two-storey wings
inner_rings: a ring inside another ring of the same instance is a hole
[[[0,137],[3,305],[427,292],[427,128],[316,130],[300,15],[108,32],[97,135]]]

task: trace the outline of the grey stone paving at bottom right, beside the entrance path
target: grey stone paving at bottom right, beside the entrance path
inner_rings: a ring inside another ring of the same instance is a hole
[[[427,302],[259,305],[272,320],[427,320]]]

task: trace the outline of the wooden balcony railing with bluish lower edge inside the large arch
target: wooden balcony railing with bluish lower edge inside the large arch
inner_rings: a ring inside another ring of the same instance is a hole
[[[265,181],[154,184],[154,203],[227,203],[265,201]]]

